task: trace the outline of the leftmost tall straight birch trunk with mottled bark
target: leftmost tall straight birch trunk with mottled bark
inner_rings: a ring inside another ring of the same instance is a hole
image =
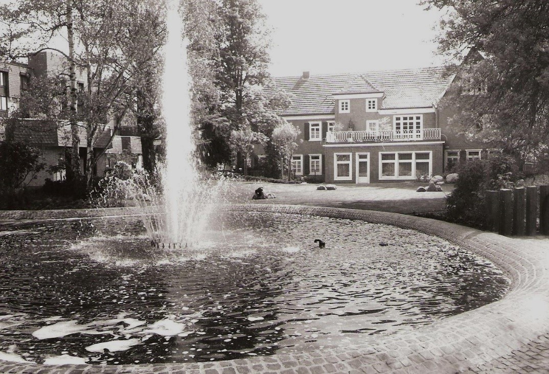
[[[72,28],[72,0],[66,0],[67,40],[69,42],[69,123],[71,133],[71,157],[66,169],[66,177],[69,182],[80,179],[80,137],[78,123],[76,122],[76,63],[74,60],[74,30]]]

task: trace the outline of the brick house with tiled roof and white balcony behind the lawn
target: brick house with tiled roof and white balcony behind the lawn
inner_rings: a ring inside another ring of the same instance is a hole
[[[292,172],[328,183],[378,183],[442,174],[453,163],[486,157],[481,143],[449,131],[453,77],[443,67],[275,78],[293,95],[279,113],[302,143]]]

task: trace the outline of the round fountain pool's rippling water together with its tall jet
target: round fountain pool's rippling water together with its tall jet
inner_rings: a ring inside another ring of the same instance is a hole
[[[418,231],[313,208],[236,206],[209,222],[212,188],[193,167],[181,20],[170,6],[164,191],[134,181],[150,198],[137,199],[142,220],[0,226],[0,360],[136,365],[310,352],[502,297],[502,271]]]

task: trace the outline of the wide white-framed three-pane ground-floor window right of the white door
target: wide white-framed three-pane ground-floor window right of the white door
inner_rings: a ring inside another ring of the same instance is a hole
[[[379,180],[416,179],[432,175],[433,154],[429,152],[380,152]]]

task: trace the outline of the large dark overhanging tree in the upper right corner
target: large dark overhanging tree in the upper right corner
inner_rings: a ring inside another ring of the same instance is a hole
[[[549,144],[549,3],[545,0],[427,0],[451,9],[439,49],[468,53],[457,73],[453,123],[524,160]]]

